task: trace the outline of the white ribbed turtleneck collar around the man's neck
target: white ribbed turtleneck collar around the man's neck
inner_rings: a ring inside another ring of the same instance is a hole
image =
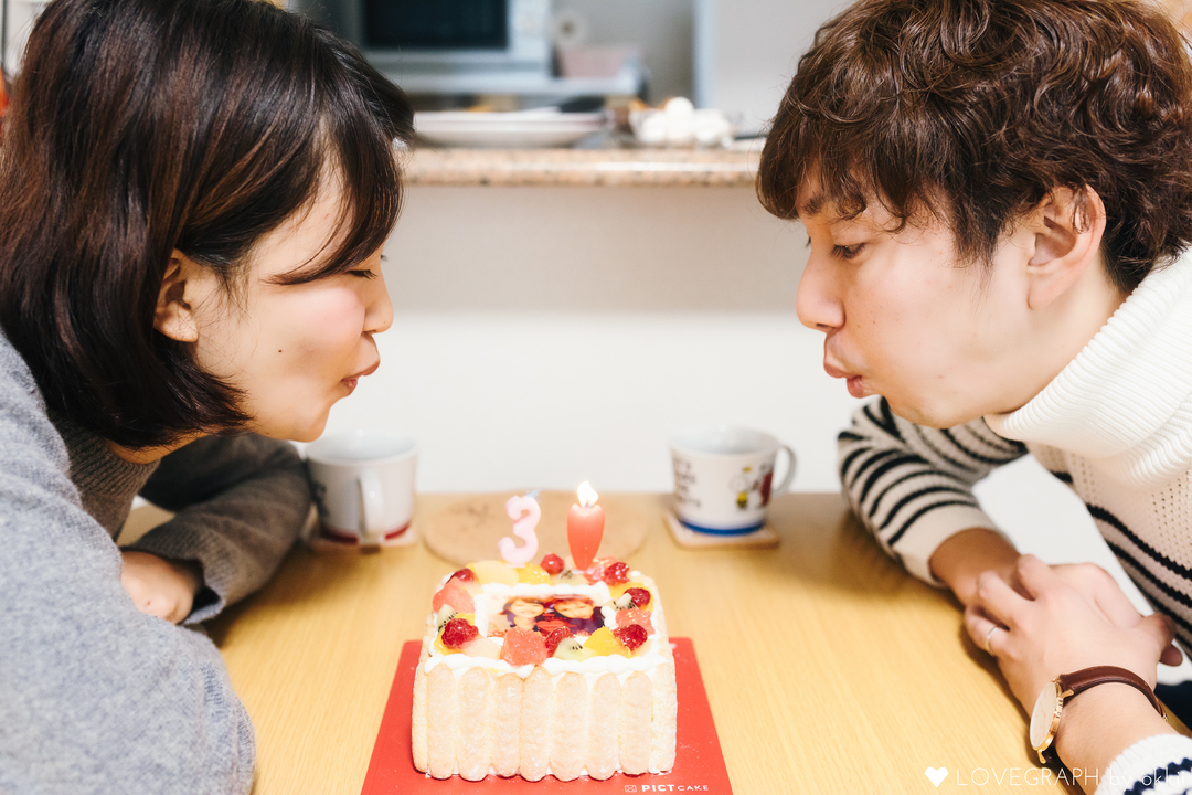
[[[1151,272],[1060,374],[994,433],[1155,485],[1192,462],[1192,253]]]

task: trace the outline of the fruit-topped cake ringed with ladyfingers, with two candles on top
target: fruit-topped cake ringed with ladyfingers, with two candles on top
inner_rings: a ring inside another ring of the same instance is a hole
[[[532,563],[541,513],[533,495],[513,497],[526,542],[502,539],[503,560],[470,564],[434,595],[414,677],[420,771],[571,781],[673,766],[675,659],[658,588],[594,557],[603,511],[586,483],[581,499],[570,559]]]

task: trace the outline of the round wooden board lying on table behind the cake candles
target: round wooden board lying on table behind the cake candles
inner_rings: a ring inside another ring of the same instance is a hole
[[[510,536],[520,547],[523,541],[513,534],[514,521],[505,513],[505,502],[513,493],[477,495],[460,497],[437,514],[423,528],[423,538],[432,552],[454,564],[466,565],[477,560],[499,560],[497,542]],[[542,507],[539,521],[538,554],[534,563],[547,552],[567,558],[567,510],[576,504],[576,495],[567,491],[542,491],[538,495]],[[616,495],[600,498],[604,507],[604,536],[597,557],[611,555],[620,560],[629,557],[646,538],[650,522],[657,516],[642,516],[632,501],[619,499]]]

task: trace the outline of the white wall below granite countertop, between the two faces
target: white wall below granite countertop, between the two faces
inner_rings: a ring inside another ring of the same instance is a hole
[[[832,489],[834,411],[799,325],[796,228],[751,190],[414,187],[386,247],[384,364],[337,406],[423,441],[428,490],[666,490],[666,436],[743,422]],[[586,424],[588,429],[583,426]]]

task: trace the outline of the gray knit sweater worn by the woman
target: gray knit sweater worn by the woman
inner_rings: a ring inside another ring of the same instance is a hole
[[[253,728],[215,645],[143,615],[113,539],[139,491],[175,517],[134,548],[192,560],[186,625],[263,583],[310,507],[285,442],[207,437],[137,466],[48,415],[0,336],[0,794],[247,793]]]

